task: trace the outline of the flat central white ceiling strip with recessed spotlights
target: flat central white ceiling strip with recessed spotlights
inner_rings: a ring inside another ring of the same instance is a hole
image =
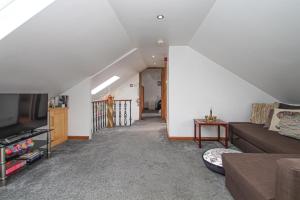
[[[169,45],[186,45],[215,0],[109,0],[148,66],[163,66]],[[157,15],[165,19],[158,21]],[[157,45],[159,39],[165,44]],[[155,58],[152,58],[152,55]],[[154,65],[156,63],[156,65]]]

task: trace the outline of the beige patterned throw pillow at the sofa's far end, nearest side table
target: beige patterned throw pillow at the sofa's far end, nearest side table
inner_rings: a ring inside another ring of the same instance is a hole
[[[252,104],[250,122],[254,124],[265,124],[268,120],[269,112],[275,104],[254,103]]]

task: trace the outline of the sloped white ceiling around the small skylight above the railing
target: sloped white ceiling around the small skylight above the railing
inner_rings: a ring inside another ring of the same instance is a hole
[[[97,87],[112,76],[119,76],[120,79],[115,83],[93,95],[94,100],[99,100],[103,94],[108,93],[125,83],[128,79],[147,68],[138,50],[132,50],[126,56],[122,56],[117,62],[106,67],[105,70],[92,77],[92,88]]]

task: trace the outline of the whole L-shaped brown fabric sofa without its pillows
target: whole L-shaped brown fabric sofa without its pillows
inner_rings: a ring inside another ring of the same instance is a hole
[[[300,140],[252,123],[230,123],[242,154],[223,154],[226,187],[237,200],[300,200]],[[290,160],[291,159],[291,160]]]

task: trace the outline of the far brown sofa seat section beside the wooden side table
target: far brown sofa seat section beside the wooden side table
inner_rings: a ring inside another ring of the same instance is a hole
[[[300,154],[300,140],[252,123],[230,123],[231,132],[267,153]]]

